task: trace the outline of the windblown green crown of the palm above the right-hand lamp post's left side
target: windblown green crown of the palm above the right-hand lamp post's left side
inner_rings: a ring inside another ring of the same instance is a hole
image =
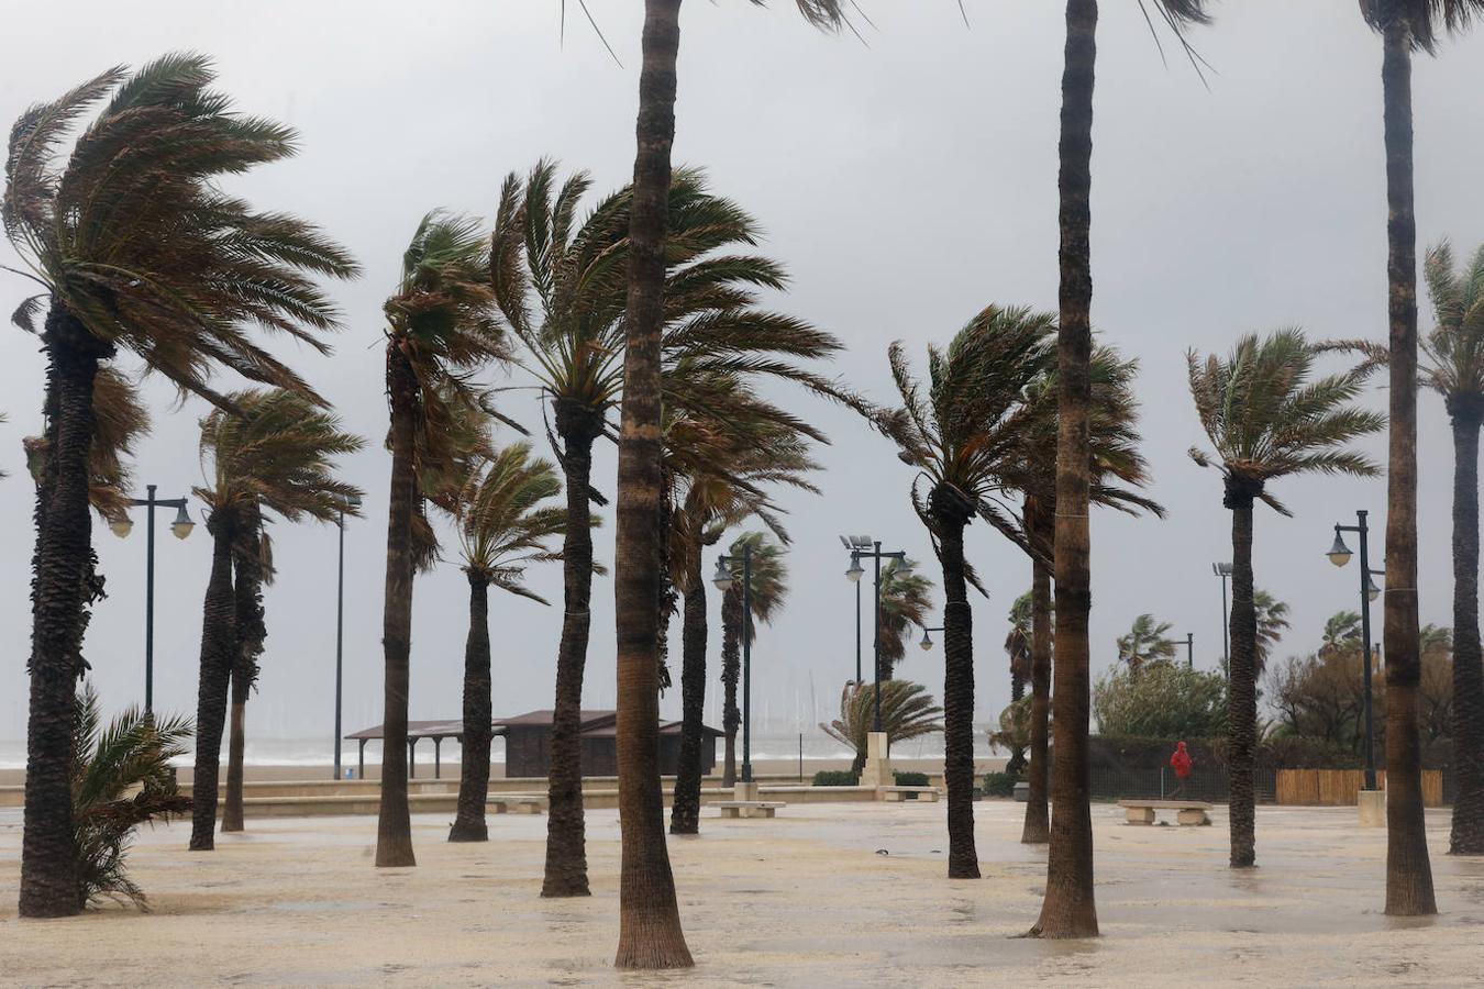
[[[1226,359],[1187,354],[1190,394],[1214,455],[1192,448],[1199,466],[1215,466],[1236,488],[1288,515],[1266,489],[1297,473],[1368,477],[1377,467],[1349,448],[1385,426],[1377,412],[1355,408],[1364,368],[1313,380],[1318,350],[1300,329],[1242,337]]]

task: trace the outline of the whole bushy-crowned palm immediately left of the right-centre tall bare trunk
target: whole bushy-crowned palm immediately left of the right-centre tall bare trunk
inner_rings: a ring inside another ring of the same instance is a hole
[[[901,458],[928,482],[926,495],[914,482],[913,506],[942,563],[950,879],[979,878],[974,844],[974,615],[968,595],[969,581],[978,581],[963,556],[963,529],[981,515],[991,525],[1000,519],[991,500],[1006,486],[1006,464],[1017,463],[1021,431],[1034,415],[1024,394],[1049,365],[1052,325],[1049,313],[984,308],[947,351],[928,348],[926,393],[913,378],[902,345],[892,344],[887,351],[902,408],[880,426],[901,448]],[[907,583],[923,578],[902,580],[895,574],[895,560],[892,571],[890,584],[898,589],[893,601],[904,602]],[[887,580],[883,574],[883,584]],[[926,603],[926,584],[920,586],[920,598]],[[904,608],[883,606],[883,633],[887,614],[901,618]],[[916,623],[925,624],[922,617]],[[899,645],[895,636],[883,635],[881,641],[879,661],[887,658],[887,644]]]

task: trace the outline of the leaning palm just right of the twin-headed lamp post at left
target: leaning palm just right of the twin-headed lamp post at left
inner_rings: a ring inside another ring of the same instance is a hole
[[[217,783],[229,685],[237,672],[239,700],[257,675],[261,649],[260,581],[264,513],[285,522],[335,519],[355,512],[361,489],[337,480],[334,461],[364,443],[340,429],[340,418],[309,399],[282,388],[234,391],[233,412],[212,409],[200,421],[200,461],[211,463],[206,483],[194,494],[206,506],[212,537],[211,580],[206,584],[200,636],[200,682],[196,701],[196,768],[191,784],[191,851],[215,847]],[[233,587],[233,568],[242,577]],[[254,627],[242,629],[237,617]],[[233,704],[233,728],[242,710]],[[240,816],[240,783],[236,795]],[[240,829],[240,820],[234,821]]]

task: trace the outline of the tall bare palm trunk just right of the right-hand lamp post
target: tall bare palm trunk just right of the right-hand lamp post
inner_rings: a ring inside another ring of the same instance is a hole
[[[1386,913],[1437,913],[1422,810],[1417,684],[1417,221],[1413,215],[1411,28],[1399,6],[1385,30],[1382,86],[1391,282],[1386,470]]]

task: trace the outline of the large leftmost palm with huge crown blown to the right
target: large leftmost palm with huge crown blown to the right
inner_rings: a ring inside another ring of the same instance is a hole
[[[88,472],[99,365],[120,350],[212,403],[211,375],[312,394],[260,347],[255,323],[326,350],[337,313],[312,276],[356,268],[337,245],[285,214],[258,214],[217,176],[288,157],[291,129],[236,113],[211,90],[200,55],[135,73],[110,68],[10,130],[6,236],[49,297],[46,443],[37,512],[31,701],[21,913],[77,912],[71,728],[92,587]],[[59,145],[96,104],[73,153]],[[40,308],[39,305],[36,307]]]

